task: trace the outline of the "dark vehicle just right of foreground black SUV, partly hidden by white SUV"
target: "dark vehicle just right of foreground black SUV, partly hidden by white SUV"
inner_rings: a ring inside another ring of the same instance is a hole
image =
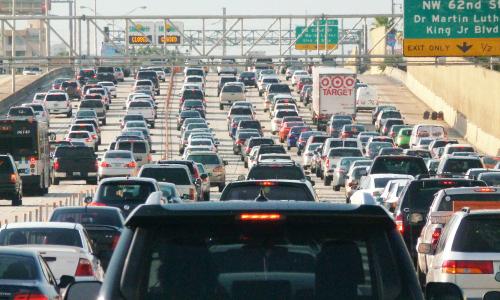
[[[485,185],[482,181],[463,178],[417,178],[408,183],[399,197],[394,210],[394,219],[415,263],[417,239],[425,224],[425,216],[429,212],[434,195],[446,188]],[[414,219],[410,220],[412,215]]]

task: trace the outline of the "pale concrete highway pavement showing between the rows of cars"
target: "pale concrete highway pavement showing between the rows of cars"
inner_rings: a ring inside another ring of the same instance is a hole
[[[379,95],[381,96],[382,103],[393,104],[398,107],[403,113],[405,120],[408,124],[416,124],[422,122],[422,114],[427,109],[427,107],[418,101],[418,99],[413,96],[405,87],[397,84],[395,81],[384,77],[384,76],[361,76],[360,79],[374,87],[377,88]],[[285,79],[282,78],[284,81]],[[125,99],[128,93],[131,91],[133,85],[133,79],[127,78],[125,82],[121,82],[117,87],[117,98],[112,100],[110,110],[107,112],[107,125],[102,126],[102,144],[99,146],[98,155],[104,153],[108,148],[109,144],[114,141],[115,137],[120,133],[119,121],[125,114],[123,109],[125,105]],[[176,118],[179,109],[179,96],[178,92],[182,87],[183,76],[182,74],[177,74],[174,76],[174,86],[173,95],[170,104],[170,110],[165,112],[166,108],[166,95],[168,91],[168,79],[166,83],[161,83],[161,95],[157,96],[158,103],[158,118],[156,120],[155,129],[151,129],[153,133],[153,149],[156,153],[153,154],[153,158],[161,159],[164,157],[165,151],[168,158],[175,159],[180,158],[179,149],[179,134],[180,132],[176,130]],[[219,153],[223,156],[225,160],[229,162],[226,166],[226,181],[234,181],[239,175],[245,175],[248,169],[245,169],[243,162],[240,157],[233,154],[232,151],[232,139],[229,137],[227,132],[226,118],[227,118],[227,108],[224,111],[219,110],[219,98],[217,97],[217,82],[218,76],[216,74],[209,73],[207,76],[207,87],[206,87],[206,99],[207,99],[207,121],[210,123],[210,127],[216,133],[217,138],[220,141]],[[296,94],[295,94],[296,95]],[[262,125],[265,127],[264,135],[272,136],[270,132],[270,119],[267,113],[264,113],[264,102],[262,97],[258,96],[258,92],[254,88],[248,88],[247,90],[247,100],[252,102],[257,109],[257,119],[261,121]],[[78,101],[73,100],[73,112],[76,112],[78,108]],[[311,122],[311,112],[308,108],[304,107],[302,103],[299,102],[300,115],[304,120],[312,125]],[[167,118],[165,118],[165,113]],[[165,121],[168,120],[167,125]],[[63,139],[67,128],[70,125],[71,120],[69,118],[63,117],[62,115],[51,116],[51,131],[57,132],[57,138]],[[364,124],[368,130],[373,129],[370,121],[369,114],[366,112],[358,113],[357,122]],[[442,121],[427,121],[436,124],[445,125]],[[165,147],[167,140],[169,144]],[[450,134],[453,138],[458,138],[453,131]],[[275,141],[278,139],[275,137]],[[296,155],[296,149],[292,148],[290,154],[297,162],[301,162],[301,158]],[[320,200],[331,201],[343,203],[345,201],[344,191],[340,192],[333,191],[331,186],[324,186],[320,178],[311,174],[313,180],[315,181],[315,190]],[[63,205],[67,198],[76,195],[78,193],[88,193],[95,190],[96,186],[86,185],[84,181],[62,181],[60,185],[52,185],[49,190],[49,194],[43,197],[31,197],[29,195],[25,196],[23,199],[23,206],[12,207],[10,201],[0,200],[0,222],[4,223],[5,220],[12,222],[17,217],[18,220],[23,220],[24,215],[26,218],[29,217],[29,213],[32,212],[32,218],[35,219],[35,210],[40,206],[49,205],[52,207],[53,204],[59,205],[62,201]],[[83,196],[81,196],[83,197]],[[211,199],[217,200],[220,197],[216,187],[211,189]],[[49,209],[50,212],[50,209]],[[47,216],[47,211],[44,208],[42,210],[42,217]]]

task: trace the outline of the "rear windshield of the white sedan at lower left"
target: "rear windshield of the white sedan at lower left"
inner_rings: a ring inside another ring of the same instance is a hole
[[[0,245],[60,245],[82,247],[76,229],[13,228],[0,231]]]

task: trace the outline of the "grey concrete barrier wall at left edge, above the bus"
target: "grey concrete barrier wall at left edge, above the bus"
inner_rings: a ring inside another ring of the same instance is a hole
[[[31,102],[32,95],[36,92],[46,92],[50,83],[57,77],[72,77],[72,68],[57,68],[53,69],[38,79],[33,80],[32,83],[19,89],[17,92],[0,100],[0,113],[4,114],[9,110],[9,107],[19,105],[21,103]]]

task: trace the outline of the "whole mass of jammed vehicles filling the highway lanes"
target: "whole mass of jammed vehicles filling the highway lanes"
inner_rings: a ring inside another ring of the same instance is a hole
[[[0,198],[95,193],[3,224],[0,299],[500,299],[500,157],[350,69],[86,66],[25,102]]]

